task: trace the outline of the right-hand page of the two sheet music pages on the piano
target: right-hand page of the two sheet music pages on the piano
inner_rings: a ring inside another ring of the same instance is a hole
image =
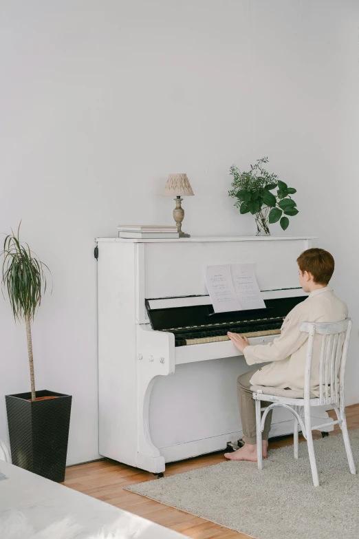
[[[265,309],[255,264],[232,264],[232,279],[242,309]]]

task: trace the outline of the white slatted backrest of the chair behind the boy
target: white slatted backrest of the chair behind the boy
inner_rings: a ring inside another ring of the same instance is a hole
[[[351,332],[351,319],[318,324],[303,322],[301,331],[308,333],[307,360],[305,363],[304,398],[309,399],[310,374],[315,335],[322,336],[319,359],[320,404],[344,405],[345,366]],[[338,379],[339,378],[339,379]]]

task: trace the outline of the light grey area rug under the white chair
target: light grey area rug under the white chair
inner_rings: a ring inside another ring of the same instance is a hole
[[[359,429],[349,433],[359,465]],[[272,450],[263,463],[226,461],[127,490],[256,539],[358,539],[359,476],[349,472],[341,434],[314,441],[320,487],[307,444]],[[359,469],[358,469],[359,472]]]

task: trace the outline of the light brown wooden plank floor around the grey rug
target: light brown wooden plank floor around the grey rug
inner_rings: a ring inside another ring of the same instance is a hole
[[[334,417],[334,411],[328,413]],[[347,407],[347,424],[349,429],[359,427],[359,404]],[[331,434],[338,432],[340,429],[338,425],[335,425],[334,432]],[[320,437],[319,432],[314,431],[313,434],[316,438]],[[300,439],[303,441],[303,437]],[[276,449],[291,444],[292,436],[273,438],[269,448]],[[219,464],[225,460],[223,453],[219,452],[190,458],[180,463],[168,464],[166,465],[166,476]],[[142,472],[137,468],[106,460],[67,468],[63,485],[143,516],[194,539],[249,539],[243,533],[237,533],[237,531],[213,524],[213,522],[208,522],[203,518],[178,511],[124,490],[124,487],[128,485],[152,479],[153,475],[149,472]]]

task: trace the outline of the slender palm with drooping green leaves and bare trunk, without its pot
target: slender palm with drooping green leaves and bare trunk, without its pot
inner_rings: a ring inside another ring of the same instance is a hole
[[[34,359],[32,355],[31,320],[41,305],[41,297],[46,290],[46,277],[40,262],[30,251],[27,243],[23,246],[19,240],[21,222],[17,236],[9,234],[3,244],[2,288],[6,288],[15,322],[25,320],[26,337],[28,339],[28,356],[30,365],[31,399],[36,399]],[[49,268],[47,268],[49,269]],[[49,270],[50,271],[50,270]],[[3,291],[3,290],[2,290]],[[5,296],[3,295],[4,299]]]

